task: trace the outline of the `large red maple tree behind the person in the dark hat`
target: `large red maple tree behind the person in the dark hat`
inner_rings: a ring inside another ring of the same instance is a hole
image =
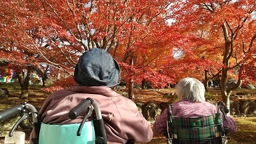
[[[163,87],[173,80],[159,73],[163,68],[159,64],[171,55],[167,45],[173,38],[165,21],[170,4],[166,0],[1,1],[1,61],[18,73],[39,67],[45,73],[51,69],[52,75],[73,75],[79,55],[97,47],[111,53],[124,75],[135,77],[136,83],[146,79]],[[131,59],[136,63],[131,65]],[[21,97],[26,98],[26,92]]]

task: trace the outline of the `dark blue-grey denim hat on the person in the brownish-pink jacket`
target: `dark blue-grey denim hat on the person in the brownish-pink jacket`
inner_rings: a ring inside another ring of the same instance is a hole
[[[120,83],[120,67],[107,51],[93,48],[79,58],[74,80],[79,85],[113,87]]]

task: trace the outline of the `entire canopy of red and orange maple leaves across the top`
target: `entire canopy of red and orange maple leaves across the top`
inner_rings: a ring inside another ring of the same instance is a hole
[[[209,77],[238,77],[232,69],[255,61],[253,0],[9,0],[0,5],[0,55],[9,67],[49,65],[51,72],[72,75],[79,55],[98,47],[119,62],[123,79],[165,87],[183,77],[204,79],[204,70]],[[181,53],[175,58],[176,50]]]

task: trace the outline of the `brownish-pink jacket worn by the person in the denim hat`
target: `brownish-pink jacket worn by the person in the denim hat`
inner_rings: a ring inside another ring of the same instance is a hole
[[[43,123],[69,124],[80,123],[83,117],[69,119],[69,111],[79,104],[82,99],[91,97],[101,109],[105,123],[105,130],[109,143],[126,143],[132,139],[137,143],[147,143],[153,137],[153,131],[138,111],[131,99],[127,99],[109,87],[85,87],[75,86],[70,89],[55,91],[47,99],[39,113]],[[113,115],[113,117],[109,117]],[[35,135],[31,133],[31,138]],[[33,143],[32,141],[30,144]]]

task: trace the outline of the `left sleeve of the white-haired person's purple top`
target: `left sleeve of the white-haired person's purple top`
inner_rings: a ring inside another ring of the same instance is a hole
[[[167,109],[163,111],[159,117],[157,117],[157,120],[155,121],[153,125],[153,131],[155,133],[161,133],[161,131],[164,131],[167,129]]]

